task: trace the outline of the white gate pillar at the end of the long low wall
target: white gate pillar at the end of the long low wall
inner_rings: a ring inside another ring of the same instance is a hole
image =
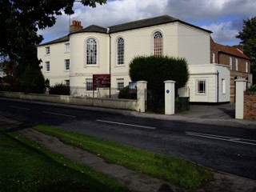
[[[139,112],[145,112],[146,110],[146,84],[145,81],[137,82],[137,110]]]

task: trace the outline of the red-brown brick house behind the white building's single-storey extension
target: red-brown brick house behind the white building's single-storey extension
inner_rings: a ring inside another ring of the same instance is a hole
[[[246,78],[247,86],[252,84],[250,58],[243,53],[243,46],[223,46],[210,38],[210,61],[230,68],[230,102],[235,101],[235,79]]]

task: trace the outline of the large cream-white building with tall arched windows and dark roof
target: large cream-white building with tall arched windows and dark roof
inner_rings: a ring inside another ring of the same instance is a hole
[[[93,25],[83,29],[81,22],[73,21],[70,34],[38,46],[38,58],[50,86],[69,84],[71,94],[79,96],[93,96],[93,74],[110,74],[111,94],[117,95],[130,82],[129,64],[135,56],[186,58],[190,80],[181,96],[189,94],[190,102],[229,102],[230,71],[210,63],[210,34],[169,15],[109,28]]]

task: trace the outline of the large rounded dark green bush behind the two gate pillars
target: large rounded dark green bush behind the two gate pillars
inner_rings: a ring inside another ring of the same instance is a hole
[[[138,56],[130,62],[130,78],[133,82],[144,80],[148,89],[164,90],[164,81],[175,81],[175,87],[186,85],[189,70],[185,58]]]

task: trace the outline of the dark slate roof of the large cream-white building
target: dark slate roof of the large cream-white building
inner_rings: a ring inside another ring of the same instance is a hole
[[[155,17],[155,18],[146,18],[146,19],[141,19],[141,20],[134,21],[134,22],[126,22],[126,23],[122,23],[119,25],[115,25],[115,26],[109,26],[108,28],[105,28],[102,26],[91,25],[91,26],[87,26],[86,28],[84,28],[82,30],[73,32],[71,34],[86,33],[86,32],[111,34],[111,33],[117,33],[117,32],[126,31],[126,30],[134,30],[134,29],[149,27],[149,26],[163,25],[163,24],[170,23],[170,22],[180,22],[187,26],[192,26],[194,28],[197,28],[198,30],[205,31],[206,33],[209,33],[209,34],[212,33],[210,30],[205,30],[205,29],[202,29],[201,27],[191,25],[190,23],[183,22],[183,21],[179,20],[178,18],[173,18],[173,17],[170,17],[169,15],[162,15],[162,16]],[[109,29],[109,31],[108,31],[108,29]],[[39,46],[45,46],[45,45],[53,44],[53,43],[57,43],[57,42],[68,41],[69,35],[70,34],[68,34],[65,37],[55,39],[54,41],[43,43]]]

